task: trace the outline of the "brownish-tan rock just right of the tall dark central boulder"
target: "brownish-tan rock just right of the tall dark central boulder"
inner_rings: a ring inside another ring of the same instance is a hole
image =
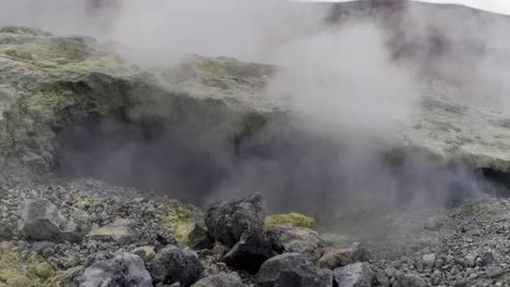
[[[283,224],[269,227],[267,237],[272,245],[272,249],[279,253],[302,253],[314,261],[323,254],[319,236],[317,232],[309,228]]]

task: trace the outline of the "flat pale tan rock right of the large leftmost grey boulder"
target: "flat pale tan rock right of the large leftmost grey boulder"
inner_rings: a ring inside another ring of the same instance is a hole
[[[129,245],[136,239],[136,234],[131,228],[132,222],[116,219],[112,223],[92,229],[87,237],[94,240],[116,241],[119,245]]]

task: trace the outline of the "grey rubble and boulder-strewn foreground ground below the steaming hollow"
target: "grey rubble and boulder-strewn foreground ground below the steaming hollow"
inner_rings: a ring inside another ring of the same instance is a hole
[[[268,216],[259,195],[202,211],[94,179],[4,177],[0,200],[0,286],[510,286],[507,199],[360,217],[386,229],[364,235]]]

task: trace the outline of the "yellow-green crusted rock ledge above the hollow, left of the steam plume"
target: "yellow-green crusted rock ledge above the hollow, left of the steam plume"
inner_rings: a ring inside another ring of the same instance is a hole
[[[201,147],[223,145],[244,129],[246,115],[268,111],[258,91],[271,67],[190,57],[178,67],[151,73],[93,38],[5,27],[0,72],[1,158],[48,171],[59,160],[61,146],[53,141],[65,125],[106,116],[132,123],[166,118],[161,122],[190,130],[210,124]]]

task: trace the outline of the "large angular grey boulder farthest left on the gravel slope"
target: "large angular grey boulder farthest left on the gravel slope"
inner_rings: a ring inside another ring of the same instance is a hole
[[[48,241],[80,241],[83,235],[77,226],[66,221],[48,200],[28,200],[22,210],[20,232],[28,239]]]

